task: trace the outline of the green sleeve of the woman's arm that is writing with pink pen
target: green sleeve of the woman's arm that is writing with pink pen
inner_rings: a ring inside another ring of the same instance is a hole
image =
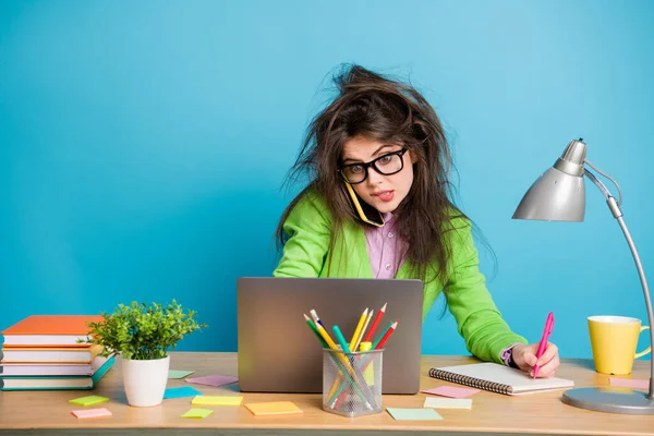
[[[483,361],[502,363],[506,348],[526,340],[511,331],[486,289],[470,222],[456,218],[452,225],[450,276],[445,286],[449,310],[468,350]]]

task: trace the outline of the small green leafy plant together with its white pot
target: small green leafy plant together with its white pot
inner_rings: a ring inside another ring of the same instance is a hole
[[[101,355],[121,355],[130,405],[160,404],[168,382],[168,351],[174,350],[184,335],[206,325],[197,324],[195,312],[184,312],[175,300],[166,306],[134,301],[101,315],[102,320],[88,323],[90,337],[85,342],[102,346]]]

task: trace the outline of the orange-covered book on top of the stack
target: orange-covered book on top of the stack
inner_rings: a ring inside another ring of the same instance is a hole
[[[2,331],[2,347],[82,346],[90,328],[87,322],[100,322],[100,315],[32,315]]]

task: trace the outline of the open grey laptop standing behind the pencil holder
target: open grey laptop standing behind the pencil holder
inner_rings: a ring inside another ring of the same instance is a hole
[[[374,319],[384,304],[373,340],[399,324],[384,347],[383,393],[420,389],[421,280],[242,277],[237,303],[241,391],[322,392],[323,346],[303,314],[315,310],[331,338],[336,324],[349,341],[363,311],[374,310]]]

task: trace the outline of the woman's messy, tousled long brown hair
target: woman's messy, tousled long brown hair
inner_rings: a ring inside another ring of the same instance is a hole
[[[289,180],[308,178],[308,185],[290,203],[276,231],[278,246],[288,235],[283,223],[311,191],[326,201],[332,217],[331,249],[344,221],[359,221],[338,173],[343,144],[352,137],[401,144],[416,158],[414,180],[393,211],[396,229],[405,241],[403,253],[423,281],[447,277],[450,244],[446,233],[455,217],[465,217],[450,201],[451,155],[434,108],[415,88],[360,65],[346,65],[334,77],[338,95],[307,128]]]

